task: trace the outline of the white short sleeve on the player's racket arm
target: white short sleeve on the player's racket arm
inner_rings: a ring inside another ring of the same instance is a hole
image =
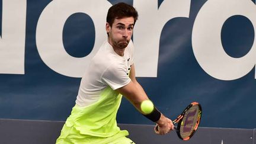
[[[110,65],[102,76],[103,81],[113,90],[129,84],[131,79],[127,75],[124,65]]]

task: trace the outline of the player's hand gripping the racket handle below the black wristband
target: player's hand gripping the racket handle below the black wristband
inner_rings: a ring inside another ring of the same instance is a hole
[[[174,124],[172,124],[172,120],[161,114],[160,119],[156,121],[156,126],[154,129],[155,133],[159,135],[166,135],[167,133],[171,132],[171,130],[174,130]]]

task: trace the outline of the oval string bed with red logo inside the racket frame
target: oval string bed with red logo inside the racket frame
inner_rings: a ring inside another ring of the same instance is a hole
[[[200,120],[199,105],[192,105],[185,113],[181,121],[180,135],[184,139],[193,135],[196,131]]]

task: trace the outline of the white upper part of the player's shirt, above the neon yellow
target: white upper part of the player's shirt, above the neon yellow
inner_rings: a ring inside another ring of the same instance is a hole
[[[82,77],[76,104],[81,107],[93,104],[100,99],[101,92],[108,86],[115,90],[129,84],[132,64],[132,40],[124,50],[124,56],[119,56],[108,41],[105,41]]]

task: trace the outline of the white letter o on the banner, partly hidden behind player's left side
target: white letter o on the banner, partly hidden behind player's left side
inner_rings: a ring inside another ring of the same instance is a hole
[[[41,13],[36,30],[37,49],[43,62],[62,75],[82,77],[92,56],[107,37],[105,18],[110,7],[110,2],[105,0],[55,0],[50,2]],[[76,12],[88,14],[95,25],[94,48],[85,57],[70,56],[63,46],[62,33],[65,21]]]

